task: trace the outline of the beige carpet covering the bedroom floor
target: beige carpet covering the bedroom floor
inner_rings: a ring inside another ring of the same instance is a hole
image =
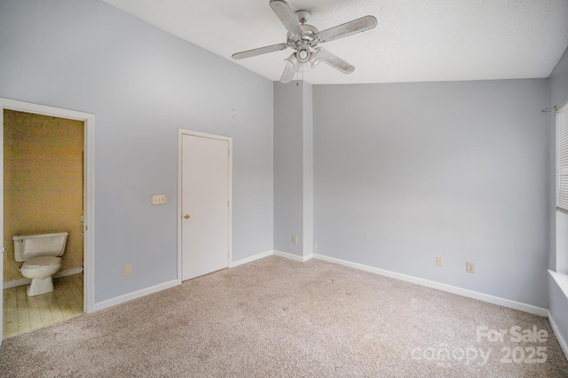
[[[271,256],[5,340],[0,375],[568,377],[568,362],[545,318]]]

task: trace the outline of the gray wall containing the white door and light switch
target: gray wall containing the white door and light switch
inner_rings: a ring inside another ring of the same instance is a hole
[[[0,97],[96,116],[95,302],[177,278],[178,128],[233,137],[233,260],[272,250],[272,82],[97,0],[2,1],[0,51]]]

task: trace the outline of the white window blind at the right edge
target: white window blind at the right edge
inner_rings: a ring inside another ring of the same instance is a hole
[[[568,104],[556,111],[556,208],[568,211]]]

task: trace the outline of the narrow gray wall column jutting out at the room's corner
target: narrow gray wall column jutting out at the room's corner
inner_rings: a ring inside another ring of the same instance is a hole
[[[313,253],[312,93],[304,81],[274,83],[274,249],[297,256]]]

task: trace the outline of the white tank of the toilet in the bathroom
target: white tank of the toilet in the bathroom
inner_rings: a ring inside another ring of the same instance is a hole
[[[14,236],[14,258],[28,261],[36,256],[61,256],[67,244],[67,232]]]

